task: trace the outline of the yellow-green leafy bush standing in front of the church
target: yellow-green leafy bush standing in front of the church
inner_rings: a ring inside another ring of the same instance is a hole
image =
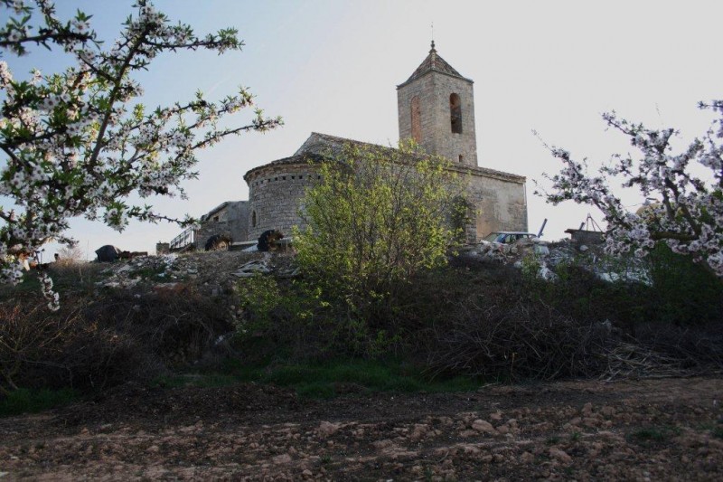
[[[352,309],[403,289],[420,269],[446,262],[448,222],[460,184],[441,158],[417,146],[347,144],[320,166],[305,196],[298,262]]]

